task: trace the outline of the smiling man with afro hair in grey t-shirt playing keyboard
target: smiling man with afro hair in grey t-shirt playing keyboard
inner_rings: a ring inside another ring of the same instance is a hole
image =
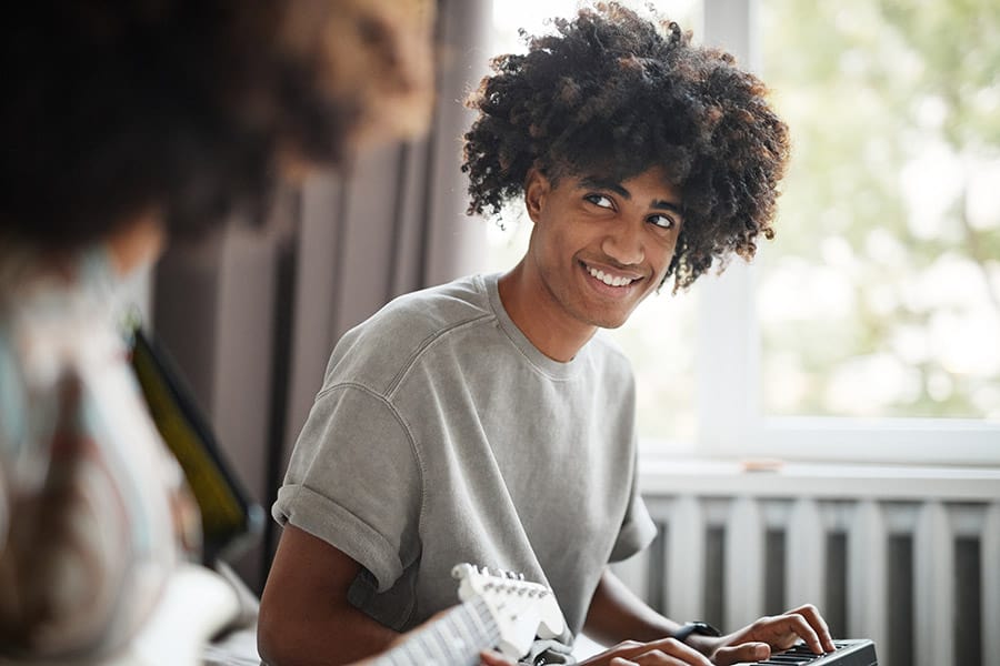
[[[526,663],[732,664],[802,639],[811,606],[690,633],[609,571],[654,526],[637,491],[628,360],[600,332],[773,235],[788,132],[766,88],[672,22],[616,3],[493,60],[469,105],[470,213],[523,200],[521,261],[401,296],[337,344],[272,513],[272,666],[382,649],[448,605],[456,562],[549,585],[568,630]],[[663,344],[671,330],[663,326]],[[350,646],[351,649],[343,649]]]

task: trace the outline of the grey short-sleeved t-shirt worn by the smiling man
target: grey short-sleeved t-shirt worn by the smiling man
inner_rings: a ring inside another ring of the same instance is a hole
[[[272,509],[360,563],[351,601],[398,630],[454,605],[468,562],[549,585],[576,635],[604,565],[656,533],[628,360],[600,334],[547,357],[497,280],[401,296],[341,339]]]

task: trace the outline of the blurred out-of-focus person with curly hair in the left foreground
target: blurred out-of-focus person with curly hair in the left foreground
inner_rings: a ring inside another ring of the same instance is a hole
[[[422,130],[433,11],[108,0],[27,3],[8,19],[0,662],[100,664],[128,653],[201,536],[126,361],[127,283],[168,240],[233,212],[261,218],[279,180]]]

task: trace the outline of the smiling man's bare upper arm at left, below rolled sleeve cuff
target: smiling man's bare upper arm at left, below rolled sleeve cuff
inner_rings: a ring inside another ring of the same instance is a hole
[[[288,524],[260,601],[257,645],[270,666],[350,664],[398,636],[348,602],[361,565]]]

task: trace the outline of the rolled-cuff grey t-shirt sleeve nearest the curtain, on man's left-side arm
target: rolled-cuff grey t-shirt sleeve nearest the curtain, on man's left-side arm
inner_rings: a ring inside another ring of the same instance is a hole
[[[419,555],[423,493],[413,452],[386,398],[334,385],[312,406],[272,515],[342,551],[384,592]]]

